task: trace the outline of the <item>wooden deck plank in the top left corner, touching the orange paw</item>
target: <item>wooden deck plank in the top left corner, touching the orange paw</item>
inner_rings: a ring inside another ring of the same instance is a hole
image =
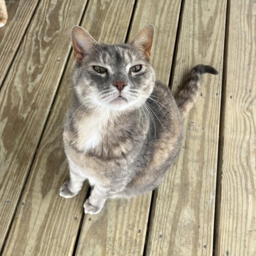
[[[38,1],[6,1],[8,21],[0,29],[0,88]]]

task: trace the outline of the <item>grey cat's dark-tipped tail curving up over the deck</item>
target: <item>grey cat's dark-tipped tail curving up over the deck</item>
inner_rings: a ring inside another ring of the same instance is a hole
[[[197,65],[191,69],[184,88],[179,92],[177,97],[175,97],[181,115],[185,115],[193,107],[200,85],[199,76],[204,73],[217,75],[218,71],[211,66],[203,64]]]

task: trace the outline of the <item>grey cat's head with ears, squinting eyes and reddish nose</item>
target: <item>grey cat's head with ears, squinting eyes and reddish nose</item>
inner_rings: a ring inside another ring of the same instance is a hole
[[[144,27],[128,44],[97,43],[82,27],[75,26],[71,40],[77,63],[73,81],[81,103],[93,108],[135,109],[155,84],[150,65],[154,26]]]

